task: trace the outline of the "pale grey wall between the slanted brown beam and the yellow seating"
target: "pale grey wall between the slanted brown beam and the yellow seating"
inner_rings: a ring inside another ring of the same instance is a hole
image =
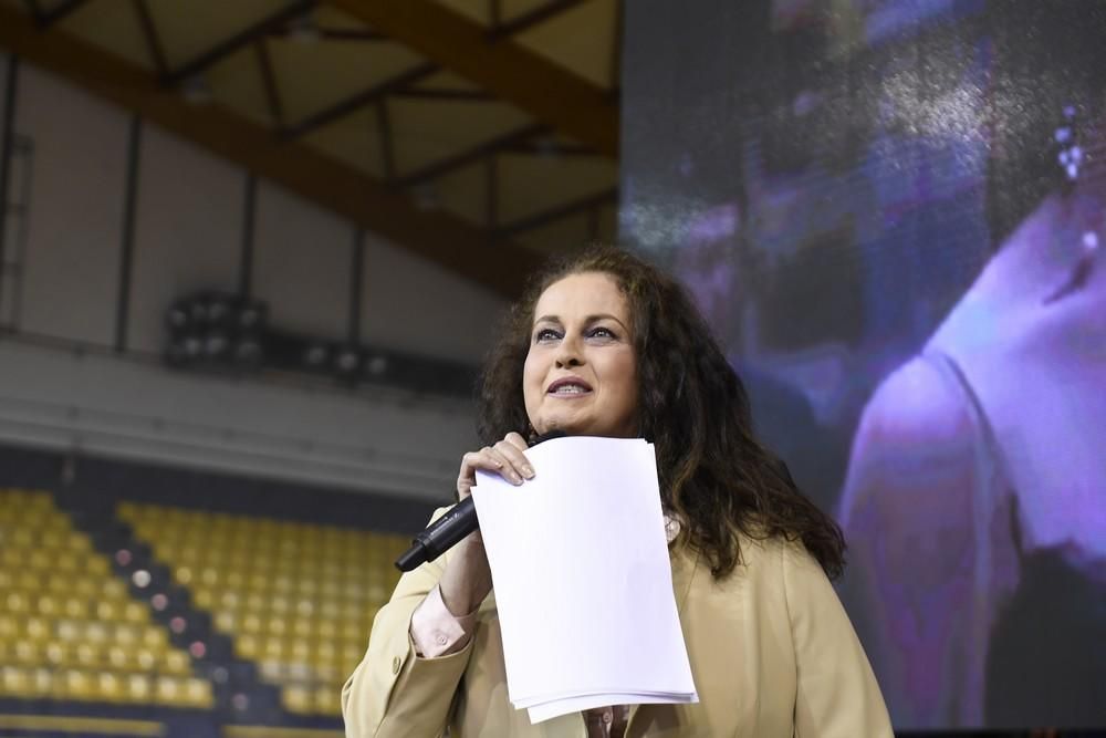
[[[9,60],[0,59],[0,84]],[[0,115],[4,90],[0,90]],[[131,279],[123,302],[131,116],[19,65],[8,224],[21,262],[0,283],[0,438],[192,467],[424,497],[448,493],[473,447],[467,402],[344,391],[289,377],[182,376],[156,361],[163,314],[200,288],[242,278],[248,173],[155,127],[139,131]],[[276,328],[343,339],[353,224],[271,183],[255,190],[253,297]],[[364,237],[361,339],[477,363],[505,303],[398,248]],[[121,304],[128,309],[118,330]],[[112,353],[125,337],[125,352]],[[74,347],[86,351],[74,353]]]

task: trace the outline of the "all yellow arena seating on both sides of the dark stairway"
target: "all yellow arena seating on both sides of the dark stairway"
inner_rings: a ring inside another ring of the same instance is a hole
[[[100,537],[88,523],[97,516],[74,518],[61,501],[49,491],[0,488],[4,699],[86,705],[100,716],[114,715],[112,706],[219,709],[210,658],[188,653],[132,581],[134,565],[121,565],[114,544],[97,543],[122,530],[132,550],[148,552],[152,572],[167,571],[175,591],[210,615],[233,656],[279,690],[285,730],[334,735],[342,684],[398,580],[393,562],[406,538],[127,500],[108,503],[109,536]],[[6,719],[72,723],[32,714],[51,710]]]

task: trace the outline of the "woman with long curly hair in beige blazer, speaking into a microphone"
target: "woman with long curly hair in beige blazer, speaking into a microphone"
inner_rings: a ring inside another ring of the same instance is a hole
[[[346,735],[891,736],[830,584],[844,567],[841,530],[753,437],[740,380],[672,279],[609,248],[556,264],[511,311],[479,412],[488,445],[462,457],[461,498],[477,469],[514,485],[540,475],[523,451],[551,430],[654,444],[700,701],[531,725],[508,698],[491,573],[473,533],[405,574],[377,614],[343,689]],[[609,524],[614,533],[619,522]],[[541,638],[541,623],[532,627]]]

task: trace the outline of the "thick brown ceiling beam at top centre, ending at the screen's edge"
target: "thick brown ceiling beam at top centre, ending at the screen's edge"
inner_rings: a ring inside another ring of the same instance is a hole
[[[618,156],[606,91],[434,0],[324,0],[598,153]]]

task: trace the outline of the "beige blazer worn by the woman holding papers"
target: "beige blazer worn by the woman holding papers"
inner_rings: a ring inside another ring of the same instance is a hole
[[[743,563],[716,582],[698,555],[674,550],[699,703],[634,707],[627,737],[891,738],[868,661],[814,559],[779,539],[743,539],[741,551]],[[578,713],[531,725],[511,706],[494,593],[462,651],[416,656],[411,613],[448,559],[405,574],[377,614],[368,652],[342,690],[346,736],[418,738],[448,727],[451,738],[585,738]]]

